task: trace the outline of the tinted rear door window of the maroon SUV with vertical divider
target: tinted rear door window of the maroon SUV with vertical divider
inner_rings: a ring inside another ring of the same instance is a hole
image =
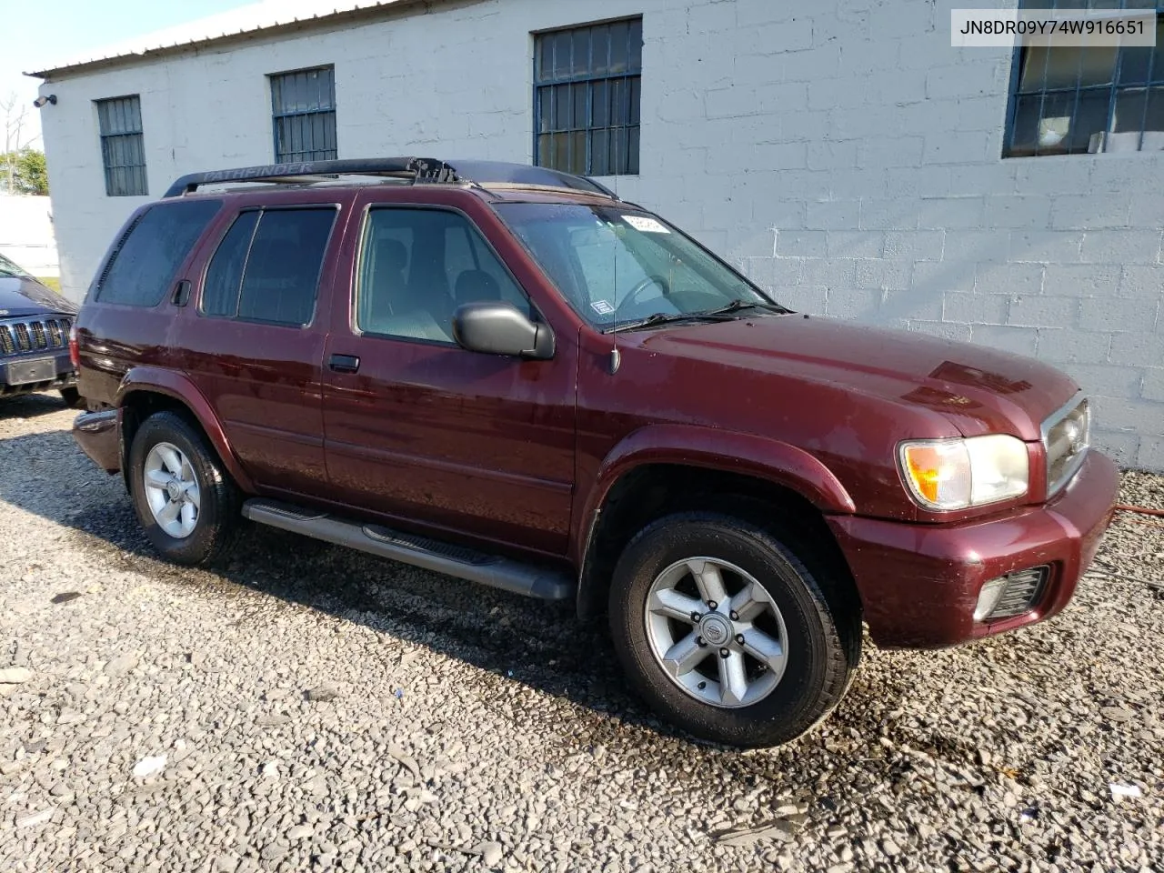
[[[241,213],[206,270],[203,314],[310,324],[335,214],[329,206]]]

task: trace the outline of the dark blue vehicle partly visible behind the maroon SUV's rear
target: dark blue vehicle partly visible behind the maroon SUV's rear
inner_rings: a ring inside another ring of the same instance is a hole
[[[77,307],[0,255],[0,398],[56,389],[80,405],[69,332]]]

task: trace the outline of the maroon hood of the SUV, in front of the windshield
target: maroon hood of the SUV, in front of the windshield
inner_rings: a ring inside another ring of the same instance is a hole
[[[830,318],[768,315],[638,336],[654,353],[925,406],[965,436],[1012,433],[1037,440],[1043,419],[1079,390],[1066,374],[1034,359]]]

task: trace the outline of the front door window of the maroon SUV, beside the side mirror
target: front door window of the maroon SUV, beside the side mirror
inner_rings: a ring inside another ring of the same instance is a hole
[[[459,306],[503,300],[530,311],[480,230],[447,210],[370,211],[357,275],[356,327],[368,334],[452,345]]]

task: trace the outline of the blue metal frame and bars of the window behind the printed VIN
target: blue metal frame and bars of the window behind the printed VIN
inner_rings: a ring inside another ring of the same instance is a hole
[[[1044,2],[1046,0],[1044,0]],[[1155,0],[1155,2],[1156,2],[1156,8],[1155,8],[1155,12],[1156,12],[1156,27],[1157,27],[1157,31],[1158,31],[1159,28],[1161,28],[1161,26],[1164,24],[1164,0]],[[1057,8],[1056,7],[1056,0],[1050,0],[1050,6],[1035,5],[1035,3],[1029,2],[1029,0],[1020,0],[1020,2],[1018,2],[1018,9],[1020,10],[1046,9],[1048,12],[1053,12],[1056,8]],[[1120,0],[1120,9],[1124,10],[1124,12],[1145,12],[1145,13],[1152,10],[1150,7],[1135,7],[1135,6],[1131,6],[1131,5],[1129,5],[1129,0]],[[1066,12],[1069,9],[1065,7],[1063,10]],[[1080,10],[1080,12],[1083,12],[1083,10]],[[1121,84],[1120,83],[1120,69],[1121,69],[1121,65],[1123,63],[1123,52],[1128,51],[1129,49],[1138,48],[1138,47],[1123,47],[1123,45],[1120,45],[1120,47],[1115,47],[1115,62],[1114,62],[1114,68],[1113,68],[1113,71],[1112,71],[1112,81],[1110,83],[1100,84],[1100,85],[1087,85],[1087,86],[1085,86],[1085,85],[1081,85],[1077,80],[1076,86],[1073,88],[1072,87],[1048,88],[1048,87],[1044,86],[1044,87],[1039,88],[1038,91],[1031,91],[1031,92],[1021,93],[1020,92],[1020,85],[1022,83],[1022,74],[1023,74],[1023,69],[1024,69],[1023,64],[1024,64],[1027,54],[1030,51],[1030,48],[1031,47],[1029,47],[1029,45],[1015,45],[1014,50],[1012,51],[1012,56],[1010,56],[1010,77],[1009,77],[1009,86],[1008,86],[1008,94],[1007,94],[1006,127],[1003,128],[1003,136],[1002,136],[1002,158],[1003,159],[1035,158],[1035,157],[1071,157],[1071,156],[1079,156],[1079,155],[1105,154],[1102,151],[1100,151],[1100,152],[1092,152],[1092,151],[1052,151],[1052,152],[1039,154],[1037,144],[1036,144],[1035,150],[1031,151],[1031,152],[1029,152],[1029,154],[1025,152],[1025,151],[1022,151],[1022,152],[1015,152],[1014,151],[1014,140],[1015,140],[1015,133],[1016,133],[1015,125],[1016,125],[1016,122],[1018,120],[1018,101],[1020,101],[1020,99],[1021,98],[1027,98],[1027,97],[1038,97],[1038,99],[1039,99],[1039,115],[1038,115],[1038,119],[1042,120],[1042,118],[1043,118],[1043,106],[1045,106],[1048,94],[1072,94],[1072,93],[1074,94],[1074,105],[1072,107],[1072,113],[1071,113],[1071,119],[1073,121],[1074,118],[1076,118],[1076,113],[1078,112],[1078,108],[1079,108],[1079,102],[1080,102],[1080,95],[1081,94],[1084,94],[1084,93],[1102,93],[1103,91],[1107,91],[1107,94],[1108,94],[1108,99],[1107,99],[1107,120],[1106,120],[1106,122],[1103,125],[1103,130],[1102,132],[1096,132],[1096,133],[1103,133],[1105,135],[1110,135],[1113,133],[1112,126],[1115,122],[1115,109],[1116,109],[1116,104],[1117,104],[1119,94],[1121,92],[1143,91],[1143,93],[1144,93],[1144,109],[1143,109],[1143,114],[1141,115],[1141,121],[1140,121],[1140,141],[1138,141],[1138,148],[1135,149],[1135,151],[1138,152],[1138,151],[1142,150],[1143,142],[1144,142],[1144,134],[1148,133],[1145,130],[1145,128],[1144,128],[1144,125],[1147,125],[1147,121],[1148,121],[1148,98],[1150,97],[1151,91],[1154,88],[1157,88],[1159,91],[1159,93],[1161,93],[1162,99],[1164,99],[1164,77],[1161,77],[1159,79],[1154,79],[1152,78],[1152,74],[1155,72],[1155,52],[1154,52],[1152,57],[1149,61],[1148,74],[1147,74],[1145,80],[1143,83],[1131,83],[1131,84]],[[1036,125],[1037,125],[1037,121],[1036,121]]]

